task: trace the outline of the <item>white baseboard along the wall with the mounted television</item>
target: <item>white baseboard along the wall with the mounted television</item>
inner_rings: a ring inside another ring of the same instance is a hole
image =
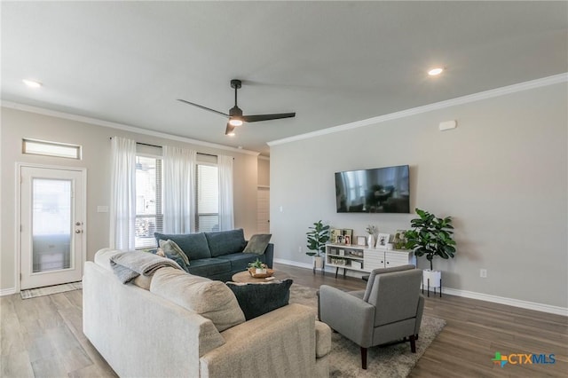
[[[274,262],[278,263],[278,264],[297,266],[299,268],[312,269],[312,264],[298,263],[297,261],[282,260],[282,259],[279,259],[279,258],[275,258]],[[326,268],[326,272],[335,273],[335,270],[333,268]],[[356,271],[350,271],[350,270],[347,271],[347,275],[350,276],[350,277],[360,278],[361,276],[363,276],[363,274],[364,273],[356,272]],[[430,293],[433,293],[433,291],[430,290]],[[564,308],[564,307],[560,307],[560,306],[553,306],[553,305],[545,304],[545,303],[528,302],[528,301],[522,301],[520,299],[506,298],[504,296],[499,296],[499,295],[476,293],[476,292],[473,292],[473,291],[460,290],[460,289],[452,288],[452,287],[442,287],[442,295],[445,295],[445,294],[462,296],[464,298],[478,299],[480,301],[485,301],[485,302],[506,304],[508,306],[520,307],[522,309],[548,312],[548,313],[568,317],[568,308]],[[438,291],[438,295],[439,295],[439,291]]]

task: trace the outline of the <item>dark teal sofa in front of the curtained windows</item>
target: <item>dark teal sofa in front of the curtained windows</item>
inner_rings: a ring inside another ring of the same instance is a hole
[[[242,229],[219,232],[166,234],[154,232],[157,245],[160,240],[172,240],[189,258],[188,273],[210,280],[229,281],[233,274],[243,272],[248,263],[258,258],[272,268],[274,245],[269,243],[262,255],[243,253],[248,240]]]

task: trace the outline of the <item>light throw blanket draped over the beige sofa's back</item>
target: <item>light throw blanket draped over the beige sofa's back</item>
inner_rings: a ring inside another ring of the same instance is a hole
[[[140,251],[117,253],[110,258],[110,266],[124,284],[134,280],[140,274],[151,276],[158,269],[166,266],[181,270],[181,267],[169,258]]]

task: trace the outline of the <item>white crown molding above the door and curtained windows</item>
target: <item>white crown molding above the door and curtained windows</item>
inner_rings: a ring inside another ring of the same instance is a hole
[[[8,108],[16,109],[16,110],[22,110],[24,112],[48,115],[48,116],[51,116],[51,117],[63,118],[63,119],[66,119],[66,120],[76,121],[76,122],[90,123],[90,124],[93,124],[93,125],[103,126],[103,127],[107,127],[107,128],[111,128],[111,129],[124,130],[124,131],[135,132],[137,134],[149,135],[151,137],[156,137],[156,138],[164,138],[164,139],[176,140],[178,142],[185,142],[185,143],[189,143],[189,144],[197,145],[197,146],[217,148],[219,150],[231,151],[233,153],[248,154],[248,155],[253,155],[253,156],[258,156],[260,154],[256,151],[244,150],[244,149],[241,149],[241,148],[235,148],[235,147],[225,146],[225,145],[217,145],[217,143],[209,143],[209,142],[204,142],[204,141],[198,140],[198,139],[178,137],[177,135],[172,135],[172,134],[168,134],[168,133],[165,133],[165,132],[141,129],[141,128],[138,128],[138,127],[135,127],[135,126],[129,126],[129,125],[125,125],[125,124],[122,124],[122,123],[109,122],[109,121],[99,120],[97,118],[85,117],[83,115],[59,112],[59,111],[55,111],[55,110],[45,109],[43,107],[38,107],[38,106],[29,106],[29,105],[24,105],[24,104],[12,102],[12,101],[4,101],[3,100],[3,101],[0,102],[0,105],[3,106],[3,107],[8,107]]]

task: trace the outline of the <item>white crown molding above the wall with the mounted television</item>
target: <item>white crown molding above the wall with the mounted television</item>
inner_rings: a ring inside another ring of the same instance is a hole
[[[376,117],[373,117],[373,118],[367,118],[366,120],[345,123],[343,125],[330,127],[330,128],[323,129],[323,130],[317,130],[317,131],[308,132],[308,133],[305,133],[305,134],[296,135],[296,136],[293,136],[293,137],[277,139],[277,140],[273,140],[271,142],[268,142],[267,145],[271,146],[271,147],[272,146],[278,146],[278,145],[284,145],[284,144],[287,144],[287,143],[290,143],[290,142],[296,142],[298,140],[316,138],[316,137],[320,137],[320,136],[327,135],[327,134],[334,134],[336,132],[341,132],[341,131],[345,131],[345,130],[353,130],[353,129],[358,129],[360,127],[365,127],[365,126],[369,126],[369,125],[373,125],[373,124],[377,124],[377,123],[397,120],[397,119],[409,117],[409,116],[412,116],[412,115],[415,115],[415,114],[428,113],[428,112],[431,112],[431,111],[434,111],[434,110],[444,109],[444,108],[450,107],[450,106],[469,104],[471,102],[480,101],[482,99],[504,96],[504,95],[507,95],[507,94],[510,94],[510,93],[516,93],[516,92],[520,92],[520,91],[528,91],[528,90],[533,90],[535,88],[546,87],[548,85],[554,85],[554,84],[557,84],[557,83],[566,83],[566,82],[568,82],[568,73],[559,74],[559,75],[552,75],[552,76],[544,77],[544,78],[541,78],[541,79],[532,80],[530,82],[513,84],[513,85],[506,86],[506,87],[501,87],[501,88],[497,88],[497,89],[494,89],[494,90],[490,90],[490,91],[483,91],[483,92],[478,92],[478,93],[474,93],[474,94],[467,95],[467,96],[448,99],[446,101],[435,102],[433,104],[429,104],[429,105],[425,105],[425,106],[413,107],[411,109],[401,110],[400,112],[379,115],[379,116],[376,116]]]

